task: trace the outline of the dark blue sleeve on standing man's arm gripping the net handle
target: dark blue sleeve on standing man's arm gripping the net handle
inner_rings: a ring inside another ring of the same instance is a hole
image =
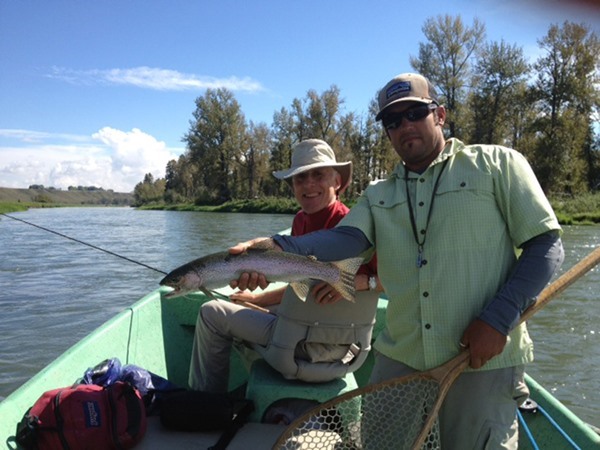
[[[523,252],[507,282],[478,316],[504,335],[518,324],[523,311],[560,267],[564,250],[556,230],[540,234],[523,244]]]

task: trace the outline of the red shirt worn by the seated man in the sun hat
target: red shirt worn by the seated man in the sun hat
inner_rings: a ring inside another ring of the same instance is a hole
[[[348,214],[348,211],[350,209],[339,200],[314,214],[307,214],[300,210],[292,222],[292,236],[302,236],[313,231],[333,228],[342,220],[342,217]],[[358,273],[369,276],[376,275],[377,255],[373,255],[371,261],[360,266]]]

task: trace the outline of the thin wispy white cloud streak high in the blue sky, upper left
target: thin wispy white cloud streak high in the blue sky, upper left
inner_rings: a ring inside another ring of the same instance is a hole
[[[232,76],[228,78],[216,78],[145,66],[108,70],[74,70],[64,67],[53,67],[47,76],[71,84],[128,85],[159,91],[203,90],[208,88],[227,88],[231,91],[244,92],[264,90],[258,81],[249,77],[238,78]]]

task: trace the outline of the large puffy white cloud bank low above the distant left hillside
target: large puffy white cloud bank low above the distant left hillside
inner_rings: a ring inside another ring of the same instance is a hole
[[[3,145],[16,140],[16,145]],[[134,128],[104,127],[91,136],[0,129],[0,186],[96,186],[131,192],[144,175],[164,177],[183,149]]]

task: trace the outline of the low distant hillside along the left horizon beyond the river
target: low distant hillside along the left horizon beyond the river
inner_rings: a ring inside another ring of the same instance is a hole
[[[0,202],[56,205],[120,205],[133,203],[133,194],[111,190],[11,189],[0,187]]]

